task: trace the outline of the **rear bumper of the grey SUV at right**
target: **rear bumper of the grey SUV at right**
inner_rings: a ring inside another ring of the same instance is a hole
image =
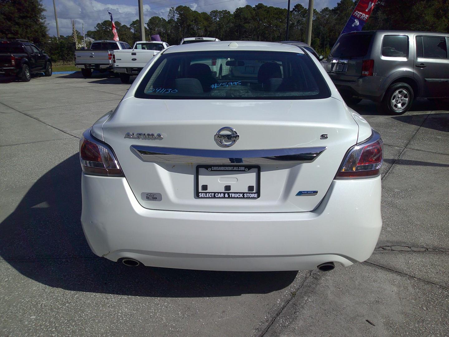
[[[385,82],[387,77],[384,76],[365,76],[358,77],[357,80],[342,80],[339,75],[329,73],[330,78],[334,82],[339,91],[346,91],[353,96],[366,98],[375,102],[380,102],[385,93]]]

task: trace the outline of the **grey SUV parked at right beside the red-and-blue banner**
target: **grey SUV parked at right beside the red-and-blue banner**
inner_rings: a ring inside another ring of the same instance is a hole
[[[402,115],[416,97],[449,97],[448,45],[449,33],[347,33],[330,51],[326,71],[348,104],[366,98]]]

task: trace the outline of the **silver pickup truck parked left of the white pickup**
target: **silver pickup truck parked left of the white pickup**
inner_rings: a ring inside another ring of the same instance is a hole
[[[112,71],[112,55],[114,49],[128,49],[126,42],[114,40],[93,41],[90,49],[75,50],[75,67],[81,68],[84,77],[90,77],[93,70],[100,72]]]

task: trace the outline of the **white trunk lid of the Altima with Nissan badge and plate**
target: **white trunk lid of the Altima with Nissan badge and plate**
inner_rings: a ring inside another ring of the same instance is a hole
[[[232,146],[220,146],[214,137],[223,127],[239,135]],[[128,98],[103,125],[104,140],[143,207],[200,212],[312,211],[357,142],[357,132],[357,123],[335,98]],[[304,152],[315,155],[288,156]],[[198,195],[209,192],[223,197]],[[225,198],[226,192],[257,196]]]

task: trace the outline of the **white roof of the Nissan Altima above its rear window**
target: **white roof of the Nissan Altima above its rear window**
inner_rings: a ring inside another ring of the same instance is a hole
[[[259,41],[217,41],[214,43],[189,43],[171,46],[164,53],[199,52],[213,50],[247,50],[304,53],[292,44]]]

